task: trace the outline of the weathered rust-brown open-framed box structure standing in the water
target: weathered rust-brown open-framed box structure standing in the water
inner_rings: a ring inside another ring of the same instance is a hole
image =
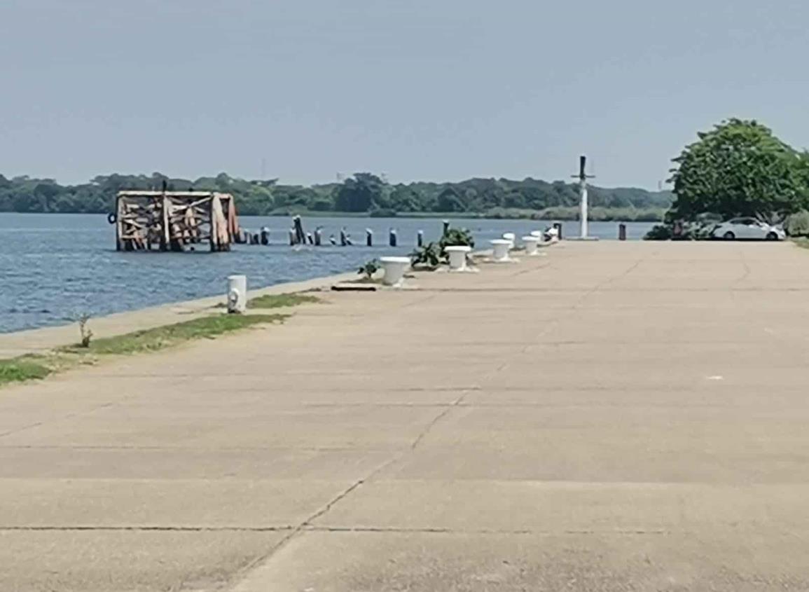
[[[230,251],[239,236],[230,193],[121,191],[115,212],[118,251],[185,251],[201,243]]]

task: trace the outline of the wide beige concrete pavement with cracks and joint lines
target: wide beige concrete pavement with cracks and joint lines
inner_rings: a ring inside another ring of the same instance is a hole
[[[413,283],[0,391],[0,590],[809,589],[809,253]]]

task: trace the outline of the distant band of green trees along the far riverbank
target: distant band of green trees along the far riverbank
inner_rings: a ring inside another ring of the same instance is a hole
[[[229,192],[239,214],[346,212],[368,215],[409,213],[487,214],[501,217],[557,214],[574,216],[578,187],[564,181],[470,179],[458,183],[390,184],[361,172],[341,183],[279,184],[277,180],[244,180],[221,173],[197,180],[152,175],[100,175],[86,184],[62,185],[51,179],[0,175],[0,211],[104,214],[112,211],[121,189],[205,190]],[[601,218],[610,212],[623,219],[659,220],[671,205],[669,192],[640,188],[591,188],[591,206]]]

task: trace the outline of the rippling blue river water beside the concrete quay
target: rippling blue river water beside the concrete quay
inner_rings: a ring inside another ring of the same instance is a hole
[[[354,247],[289,246],[289,218],[239,218],[244,228],[270,229],[269,246],[236,245],[227,253],[126,253],[115,250],[115,229],[104,215],[0,214],[0,332],[73,322],[78,315],[112,312],[223,294],[227,276],[244,273],[259,288],[356,269],[374,257],[413,250],[417,230],[438,239],[438,219],[306,218],[307,231],[323,226],[324,240],[348,230]],[[503,232],[522,236],[549,222],[452,219],[472,230],[479,247]],[[640,239],[652,224],[629,222],[629,239]],[[386,246],[396,228],[399,247]],[[379,246],[365,247],[365,229]],[[591,222],[590,234],[616,239],[617,222]],[[565,222],[575,235],[578,222]]]

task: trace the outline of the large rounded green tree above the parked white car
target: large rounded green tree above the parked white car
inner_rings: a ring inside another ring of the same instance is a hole
[[[807,155],[756,121],[730,119],[686,146],[671,170],[670,219],[698,214],[783,220],[807,207]]]

